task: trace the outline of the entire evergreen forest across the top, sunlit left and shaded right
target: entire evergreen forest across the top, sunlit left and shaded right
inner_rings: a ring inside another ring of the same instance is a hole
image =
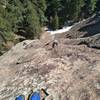
[[[16,35],[39,38],[45,26],[56,30],[99,10],[100,0],[0,0],[0,36],[5,42],[0,48],[18,42]]]

